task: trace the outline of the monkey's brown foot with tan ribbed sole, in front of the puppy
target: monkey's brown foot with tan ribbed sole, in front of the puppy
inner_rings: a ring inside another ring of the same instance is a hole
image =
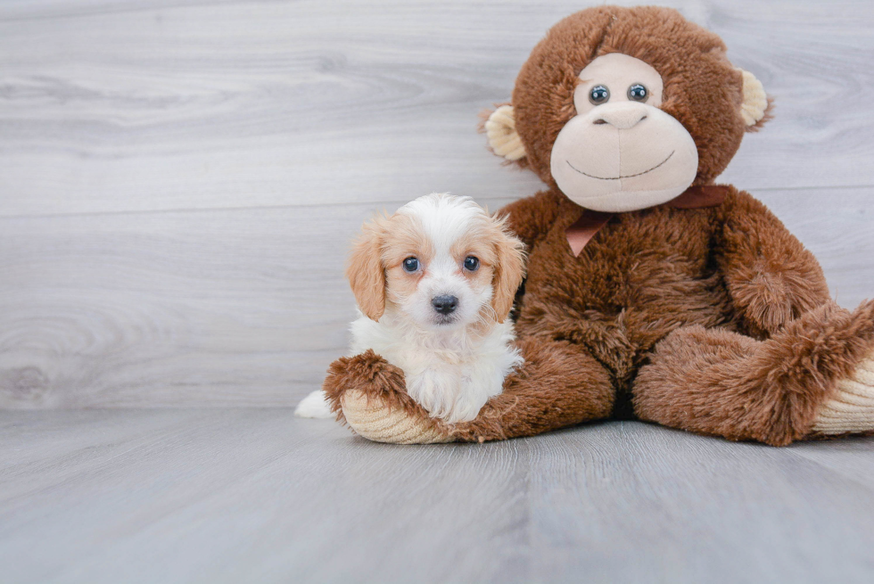
[[[403,372],[373,350],[334,361],[322,389],[337,419],[368,440],[394,444],[453,440],[446,424],[408,395]]]

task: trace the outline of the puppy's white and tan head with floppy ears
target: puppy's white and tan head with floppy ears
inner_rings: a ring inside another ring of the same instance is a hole
[[[503,322],[524,276],[524,246],[468,197],[431,194],[365,225],[347,276],[374,320],[390,302],[426,328]]]

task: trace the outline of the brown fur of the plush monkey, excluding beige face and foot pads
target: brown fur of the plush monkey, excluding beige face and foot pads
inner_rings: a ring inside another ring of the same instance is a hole
[[[583,210],[558,190],[550,153],[574,115],[580,70],[611,52],[661,74],[662,109],[697,144],[696,186],[712,185],[744,132],[770,117],[746,127],[741,74],[725,46],[679,12],[602,6],[559,22],[513,92],[522,165],[549,188],[500,211],[529,250],[515,308],[525,365],[477,419],[449,426],[411,403],[402,374],[366,354],[332,366],[335,409],[344,389],[367,391],[458,440],[611,414],[772,445],[813,436],[820,405],[874,350],[874,303],[838,308],[816,259],[761,202],[725,186],[715,207],[615,214],[579,257],[571,251],[565,230]]]

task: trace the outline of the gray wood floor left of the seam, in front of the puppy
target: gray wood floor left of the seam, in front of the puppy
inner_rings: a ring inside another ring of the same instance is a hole
[[[95,446],[70,452],[68,432],[25,414],[60,451],[0,485],[0,563],[14,580],[361,581],[387,568],[392,580],[491,581],[519,563],[519,445],[487,448],[491,468],[470,490],[483,449],[385,448],[287,409],[143,412],[127,424],[76,414],[95,420]],[[446,521],[459,504],[465,514]],[[447,562],[429,548],[460,552],[458,535],[490,542],[489,555]],[[38,559],[33,539],[53,553]]]

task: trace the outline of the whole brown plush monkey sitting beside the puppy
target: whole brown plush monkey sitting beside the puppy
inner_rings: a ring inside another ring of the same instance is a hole
[[[529,252],[524,366],[474,421],[445,424],[367,352],[330,367],[334,410],[388,442],[611,417],[774,446],[874,430],[874,302],[838,307],[761,202],[713,185],[770,110],[721,39],[679,12],[560,21],[485,122],[492,150],[548,185],[500,211]]]

